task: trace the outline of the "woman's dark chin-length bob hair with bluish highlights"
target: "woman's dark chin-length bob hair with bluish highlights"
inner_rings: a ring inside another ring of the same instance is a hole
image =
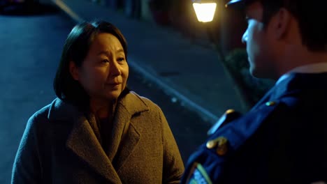
[[[99,33],[110,33],[117,37],[127,58],[126,40],[116,26],[104,21],[94,21],[82,22],[73,27],[64,44],[53,86],[58,98],[71,102],[80,108],[89,106],[89,95],[80,83],[71,76],[69,63],[73,61],[76,66],[82,66],[90,45]]]

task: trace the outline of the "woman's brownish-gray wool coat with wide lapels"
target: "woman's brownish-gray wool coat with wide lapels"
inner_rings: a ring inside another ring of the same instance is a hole
[[[12,183],[180,183],[184,164],[153,102],[134,92],[119,100],[107,154],[94,123],[94,116],[59,98],[36,112],[20,142]]]

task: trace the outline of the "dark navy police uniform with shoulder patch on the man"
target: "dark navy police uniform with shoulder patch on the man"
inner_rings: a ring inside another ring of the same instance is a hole
[[[304,68],[283,75],[247,114],[228,110],[181,183],[326,183],[327,63]]]

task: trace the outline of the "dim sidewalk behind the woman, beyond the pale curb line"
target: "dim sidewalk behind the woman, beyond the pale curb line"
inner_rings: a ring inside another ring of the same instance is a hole
[[[52,0],[73,20],[115,24],[129,45],[129,66],[184,107],[215,123],[226,109],[242,111],[235,85],[213,49],[169,28],[140,22],[87,0]]]

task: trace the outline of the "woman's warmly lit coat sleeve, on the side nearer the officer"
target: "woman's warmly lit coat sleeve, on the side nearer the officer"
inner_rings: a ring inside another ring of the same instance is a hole
[[[180,183],[184,172],[184,164],[178,150],[173,133],[166,117],[159,109],[159,117],[163,125],[163,181],[162,183]]]

